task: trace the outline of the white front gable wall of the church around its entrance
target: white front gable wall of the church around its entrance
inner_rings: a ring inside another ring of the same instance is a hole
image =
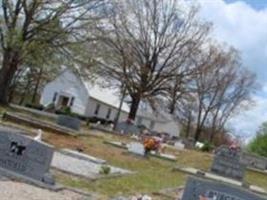
[[[57,92],[57,99],[60,95],[75,97],[71,107],[72,111],[80,115],[85,114],[86,105],[88,102],[88,93],[81,81],[70,71],[65,70],[54,81],[48,83],[43,89],[40,103],[44,106],[53,102],[53,97]]]

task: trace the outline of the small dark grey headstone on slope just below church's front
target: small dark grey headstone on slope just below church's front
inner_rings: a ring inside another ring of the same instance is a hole
[[[71,117],[68,115],[59,115],[57,118],[57,124],[79,131],[81,127],[81,120],[77,117]]]

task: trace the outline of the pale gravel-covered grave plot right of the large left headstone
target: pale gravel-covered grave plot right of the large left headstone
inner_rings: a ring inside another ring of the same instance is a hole
[[[71,174],[94,179],[99,176],[99,171],[102,165],[89,160],[83,160],[60,152],[55,152],[51,166]],[[130,171],[121,168],[109,167],[111,168],[111,175],[131,173]]]

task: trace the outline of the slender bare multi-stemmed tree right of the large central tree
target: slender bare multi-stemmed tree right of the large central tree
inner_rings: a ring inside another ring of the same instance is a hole
[[[198,63],[200,72],[194,78],[198,106],[195,141],[203,128],[210,127],[210,140],[224,131],[227,120],[250,101],[255,86],[254,75],[241,66],[235,49],[212,45],[203,56],[205,61]]]

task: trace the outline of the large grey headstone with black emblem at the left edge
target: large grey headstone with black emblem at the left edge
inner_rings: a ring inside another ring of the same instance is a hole
[[[53,147],[21,135],[18,130],[0,127],[1,171],[53,185],[49,173],[53,152]]]

